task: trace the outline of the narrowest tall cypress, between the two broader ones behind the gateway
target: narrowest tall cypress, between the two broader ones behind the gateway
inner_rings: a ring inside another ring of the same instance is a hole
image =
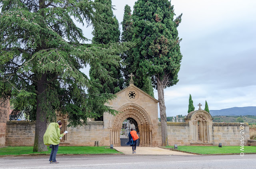
[[[130,6],[126,5],[124,7],[124,17],[122,21],[122,42],[132,41],[134,22],[132,20],[131,12],[132,10]],[[133,49],[126,51],[122,55],[122,59],[125,65],[124,67],[122,67],[122,71],[124,74],[126,86],[128,86],[130,82],[130,73],[133,73],[135,75],[134,85],[142,89],[144,92],[148,93],[150,96],[154,97],[154,89],[151,83],[151,79],[148,75],[144,76],[144,74],[139,72],[139,62],[134,61]]]

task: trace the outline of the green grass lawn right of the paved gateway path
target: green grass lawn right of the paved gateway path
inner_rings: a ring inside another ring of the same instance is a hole
[[[166,146],[174,148],[174,146]],[[244,146],[244,151],[240,146],[178,146],[178,150],[199,154],[222,154],[222,153],[256,153],[256,146]]]

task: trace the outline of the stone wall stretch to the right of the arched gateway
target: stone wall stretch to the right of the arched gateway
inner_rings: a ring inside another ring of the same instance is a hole
[[[240,123],[213,123],[212,142],[205,143],[205,145],[217,146],[219,143],[222,145],[240,145],[241,138],[244,145],[248,145],[250,139],[249,126],[247,124],[240,126]],[[240,129],[241,128],[241,129]],[[244,129],[242,129],[244,128]],[[188,123],[170,122],[167,124],[168,131],[168,144],[169,145],[197,145],[194,143],[194,133]],[[158,124],[158,145],[161,145],[161,123]],[[198,144],[200,145],[200,144]],[[202,143],[201,145],[204,145]]]

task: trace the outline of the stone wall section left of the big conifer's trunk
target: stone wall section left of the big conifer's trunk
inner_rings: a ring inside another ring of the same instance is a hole
[[[6,146],[33,146],[36,122],[10,121],[6,123]]]

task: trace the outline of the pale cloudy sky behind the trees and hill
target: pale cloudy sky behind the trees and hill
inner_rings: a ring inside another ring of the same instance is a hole
[[[121,23],[124,6],[136,0],[112,0]],[[166,115],[188,114],[189,94],[195,110],[207,100],[210,110],[256,106],[256,1],[172,0],[183,55],[179,82],[164,90]],[[92,28],[82,28],[92,39]],[[120,25],[120,30],[122,26]],[[84,69],[88,75],[88,68]],[[157,90],[154,89],[157,99]],[[159,114],[159,113],[158,113]],[[159,116],[159,115],[158,115]]]

